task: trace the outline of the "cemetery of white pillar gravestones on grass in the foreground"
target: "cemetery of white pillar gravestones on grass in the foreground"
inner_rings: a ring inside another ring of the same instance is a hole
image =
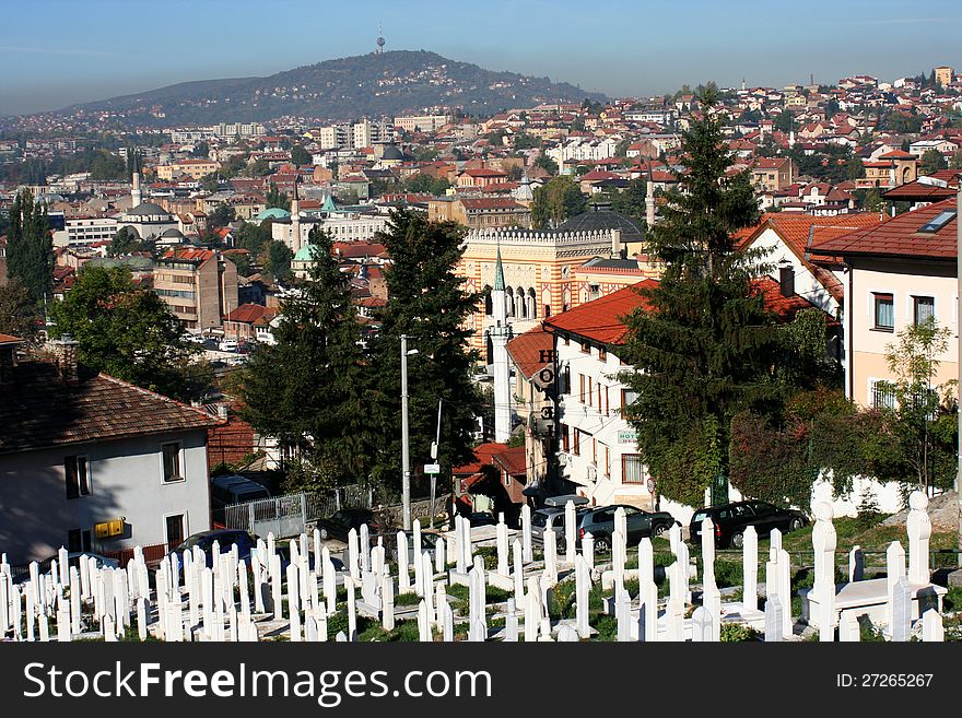
[[[960,640],[962,590],[935,582],[927,496],[915,492],[882,556],[843,549],[831,504],[816,499],[810,534],[750,528],[719,557],[711,519],[700,545],[674,526],[665,539],[610,554],[575,531],[568,503],[543,540],[521,528],[456,517],[433,551],[413,537],[351,530],[338,570],[319,532],[279,551],[273,534],[250,560],[237,548],[172,552],[156,570],[141,551],[126,566],[71,565],[61,549],[42,574],[0,560],[4,642],[858,642]],[[410,544],[410,545],[409,545]],[[840,560],[840,556],[844,558]],[[289,558],[288,558],[289,557]]]

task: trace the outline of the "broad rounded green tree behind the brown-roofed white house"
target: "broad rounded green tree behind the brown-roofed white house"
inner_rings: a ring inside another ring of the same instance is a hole
[[[181,401],[201,398],[212,384],[167,304],[126,268],[84,267],[50,314],[51,333],[80,342],[78,358],[95,372]]]

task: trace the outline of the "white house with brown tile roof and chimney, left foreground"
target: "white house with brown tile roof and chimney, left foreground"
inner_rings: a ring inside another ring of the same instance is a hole
[[[56,363],[17,364],[12,339],[0,336],[0,551],[11,563],[60,546],[179,543],[210,528],[207,431],[215,419],[78,369],[77,342],[54,342]],[[107,522],[119,531],[98,537]]]

